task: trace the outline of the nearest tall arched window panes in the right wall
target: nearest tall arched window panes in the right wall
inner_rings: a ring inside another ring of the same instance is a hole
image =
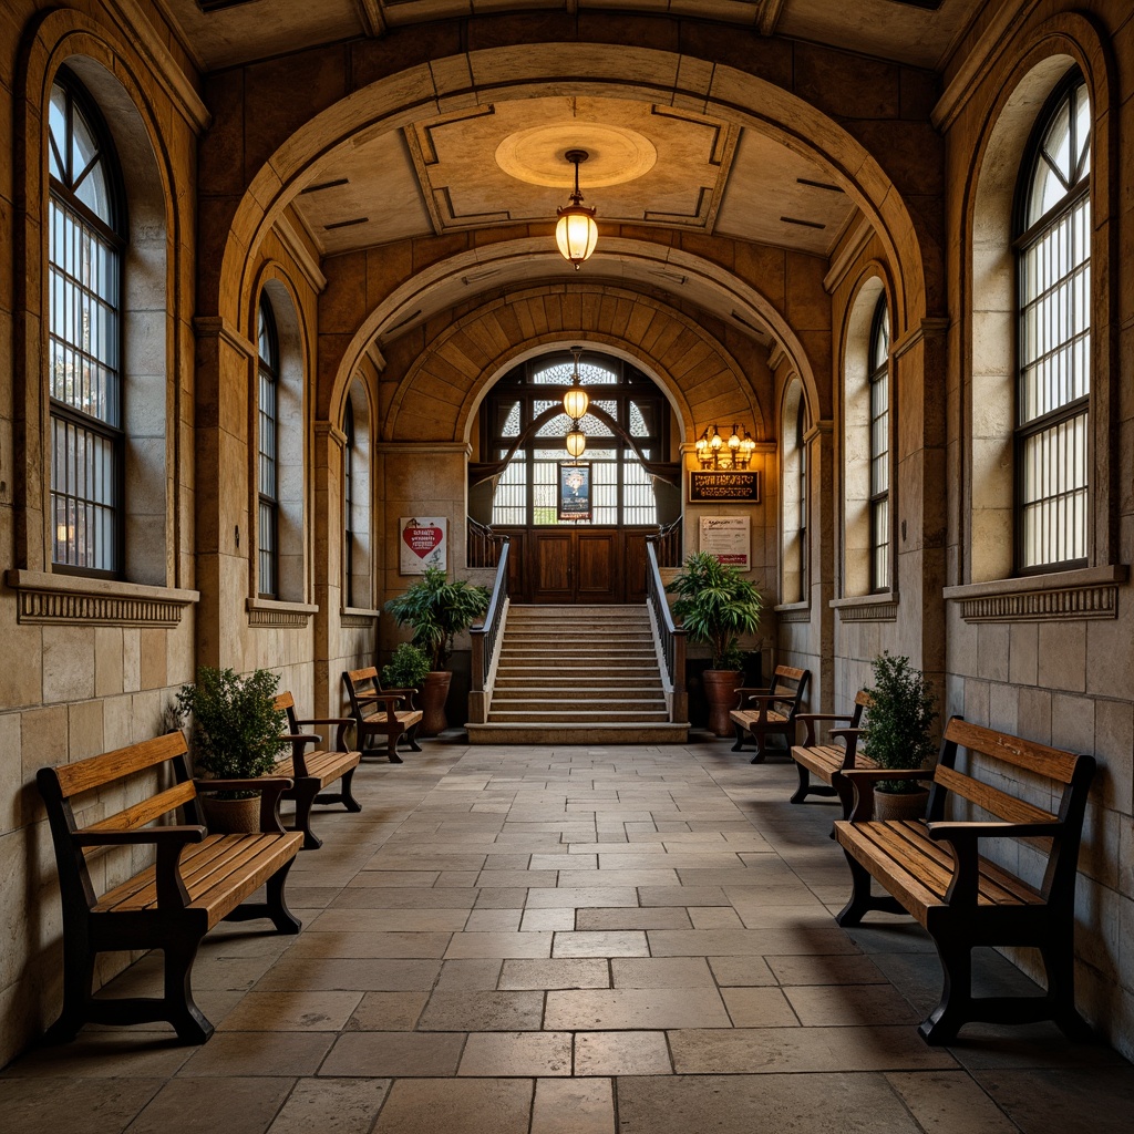
[[[1016,569],[1086,565],[1091,393],[1091,104],[1056,88],[1017,189]]]

